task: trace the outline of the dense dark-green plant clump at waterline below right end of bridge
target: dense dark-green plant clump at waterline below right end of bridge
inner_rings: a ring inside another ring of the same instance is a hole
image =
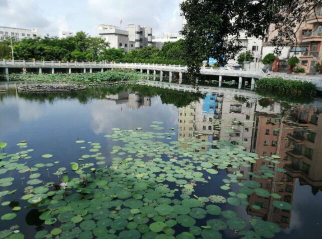
[[[256,81],[257,89],[261,92],[276,94],[291,94],[292,96],[312,96],[315,85],[298,80],[284,80],[281,77],[261,78]]]

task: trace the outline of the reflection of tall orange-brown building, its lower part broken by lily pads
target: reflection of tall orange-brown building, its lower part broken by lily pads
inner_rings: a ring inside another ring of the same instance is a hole
[[[268,108],[271,107],[269,106]],[[261,111],[255,113],[255,130],[253,136],[253,149],[260,158],[253,165],[252,172],[260,172],[263,168],[276,171],[276,169],[282,169],[288,163],[286,152],[290,148],[288,147],[287,135],[293,129],[284,122],[284,118],[280,117],[281,112],[278,112],[279,110],[277,112],[275,111],[275,113],[279,114],[266,113],[267,108]],[[280,162],[278,164],[265,160],[265,157],[272,155],[280,156]],[[262,174],[260,175],[263,176]],[[276,193],[281,197],[280,200],[292,204],[295,180],[288,177],[285,173],[277,172],[273,177],[252,177],[252,180],[258,182],[260,187],[270,194]],[[249,215],[261,217],[265,221],[278,224],[283,229],[289,227],[291,211],[283,211],[275,208],[272,205],[273,198],[259,197],[253,193],[249,196],[248,200],[249,205],[257,205],[261,208],[260,210],[255,210],[249,206],[247,208]]]

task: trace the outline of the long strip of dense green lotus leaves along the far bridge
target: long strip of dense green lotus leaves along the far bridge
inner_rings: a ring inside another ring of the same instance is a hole
[[[99,83],[99,82],[123,82],[143,79],[143,75],[136,71],[105,71],[85,74],[11,74],[11,81],[24,82],[76,82],[76,83]]]

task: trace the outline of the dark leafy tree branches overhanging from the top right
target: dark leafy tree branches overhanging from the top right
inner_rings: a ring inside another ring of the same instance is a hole
[[[188,76],[194,81],[200,64],[208,57],[224,64],[241,50],[240,33],[262,37],[272,23],[279,34],[273,44],[296,41],[298,25],[322,0],[185,0],[181,3],[186,24],[185,60]],[[232,36],[228,39],[228,36]],[[278,48],[276,49],[278,51]]]

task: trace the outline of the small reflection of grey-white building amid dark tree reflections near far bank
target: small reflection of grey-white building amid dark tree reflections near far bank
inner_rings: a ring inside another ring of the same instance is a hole
[[[138,109],[140,107],[151,106],[151,98],[146,96],[140,96],[135,91],[126,90],[114,95],[106,95],[105,98],[114,100],[116,104],[125,104],[129,109]]]

